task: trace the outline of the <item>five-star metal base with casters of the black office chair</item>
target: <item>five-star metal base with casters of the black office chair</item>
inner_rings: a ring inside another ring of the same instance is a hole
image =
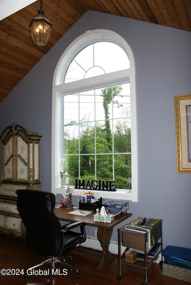
[[[68,257],[68,256],[67,256]],[[44,258],[42,261],[30,266],[27,268],[26,273],[25,273],[25,278],[29,277],[30,275],[46,275],[47,276],[47,283],[46,285],[51,285],[50,283],[50,276],[51,275],[67,275],[67,270],[63,269],[63,271],[60,272],[60,269],[55,269],[54,266],[56,263],[61,263],[67,267],[73,268],[76,270],[75,273],[75,278],[80,278],[80,274],[78,272],[78,269],[76,267],[73,267],[71,264],[72,262],[72,257],[70,257],[69,263],[66,262],[66,257],[63,257],[63,261],[57,257],[49,257],[49,258]],[[35,268],[40,267],[41,265],[50,263],[50,267],[47,270],[41,270],[40,268],[38,270],[35,270]]]

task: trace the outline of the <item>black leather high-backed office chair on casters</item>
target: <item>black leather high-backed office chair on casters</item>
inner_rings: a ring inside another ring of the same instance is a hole
[[[28,267],[25,277],[31,275],[32,269],[50,263],[46,283],[46,285],[50,285],[52,269],[54,269],[54,264],[59,262],[76,269],[75,277],[80,278],[78,269],[71,265],[72,258],[69,263],[66,262],[66,253],[86,240],[84,222],[74,222],[61,227],[54,213],[55,196],[53,193],[17,190],[17,196],[17,208],[26,229],[25,244],[44,258],[41,262]],[[72,231],[73,229],[76,231]]]

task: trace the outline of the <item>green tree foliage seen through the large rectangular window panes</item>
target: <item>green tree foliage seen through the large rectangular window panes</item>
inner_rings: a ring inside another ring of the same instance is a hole
[[[64,151],[69,156],[64,156],[64,171],[70,174],[70,185],[75,185],[75,179],[79,178],[79,153],[80,153],[80,179],[87,182],[95,180],[115,180],[115,187],[118,189],[129,189],[127,178],[128,169],[131,169],[131,128],[130,128],[130,110],[126,109],[125,119],[118,120],[115,123],[113,138],[114,149],[112,150],[112,131],[110,127],[111,104],[118,103],[117,97],[121,96],[122,87],[113,86],[101,90],[103,98],[103,107],[105,122],[100,124],[96,122],[89,123],[86,118],[85,123],[80,123],[79,137],[71,138],[68,131],[64,132]],[[113,97],[112,97],[113,91]],[[114,100],[115,98],[115,100]],[[95,156],[95,137],[96,137],[96,156]],[[79,141],[80,140],[80,141]],[[80,142],[80,143],[79,143]],[[80,150],[79,150],[80,145]],[[114,173],[113,178],[113,155],[114,152]],[[91,166],[89,165],[91,160]],[[92,174],[92,175],[91,175]]]

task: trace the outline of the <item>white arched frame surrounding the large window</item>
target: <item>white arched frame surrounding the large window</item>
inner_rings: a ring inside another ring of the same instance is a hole
[[[130,68],[116,72],[98,75],[93,78],[85,78],[69,83],[64,82],[67,68],[74,56],[84,47],[98,41],[110,41],[118,44],[128,55]],[[130,102],[131,102],[131,169],[132,169],[132,192],[127,190],[98,191],[102,198],[128,200],[138,202],[138,162],[137,162],[137,123],[136,123],[136,93],[135,93],[135,61],[133,52],[127,42],[117,33],[110,30],[87,31],[74,40],[64,51],[56,66],[53,76],[53,97],[52,97],[52,192],[63,194],[61,188],[60,171],[63,171],[63,94],[76,93],[80,90],[86,91],[101,88],[107,84],[126,83],[130,81]],[[96,83],[99,82],[99,83]],[[93,88],[92,88],[93,86]],[[84,193],[78,189],[78,195]],[[75,195],[75,194],[74,194]],[[77,195],[77,193],[76,193]]]

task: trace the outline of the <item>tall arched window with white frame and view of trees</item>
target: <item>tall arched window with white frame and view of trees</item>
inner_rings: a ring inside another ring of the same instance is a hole
[[[135,102],[133,54],[119,35],[89,31],[67,48],[53,80],[54,193],[62,171],[70,185],[104,181],[104,198],[137,201]]]

